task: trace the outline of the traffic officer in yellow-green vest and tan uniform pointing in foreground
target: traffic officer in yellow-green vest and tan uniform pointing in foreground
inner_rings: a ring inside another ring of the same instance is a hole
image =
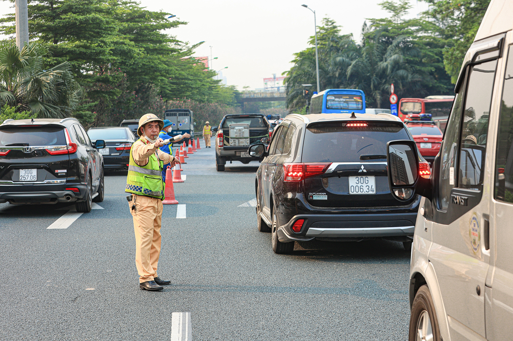
[[[171,281],[157,275],[161,249],[162,199],[164,182],[162,168],[165,163],[174,166],[180,163],[159,147],[164,141],[159,138],[164,122],[153,114],[146,114],[139,120],[137,135],[141,138],[130,149],[127,185],[125,191],[131,195],[129,209],[133,217],[135,232],[135,265],[139,272],[139,286],[146,290],[162,290],[161,285]],[[175,136],[174,139],[181,139]]]

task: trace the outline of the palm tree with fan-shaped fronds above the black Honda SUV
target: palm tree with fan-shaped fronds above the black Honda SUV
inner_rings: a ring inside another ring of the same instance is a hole
[[[68,62],[43,70],[48,51],[39,44],[20,51],[12,42],[0,48],[0,102],[40,118],[70,116],[82,96]]]

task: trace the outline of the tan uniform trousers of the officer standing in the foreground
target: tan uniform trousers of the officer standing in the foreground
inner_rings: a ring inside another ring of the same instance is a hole
[[[133,198],[135,209],[132,209]],[[162,200],[132,195],[128,207],[133,218],[135,232],[135,266],[139,283],[153,281],[157,277],[161,248]]]

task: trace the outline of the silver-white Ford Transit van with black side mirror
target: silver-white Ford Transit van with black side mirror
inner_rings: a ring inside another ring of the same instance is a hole
[[[492,0],[456,84],[431,176],[388,143],[397,200],[421,194],[409,340],[513,340],[513,0]]]

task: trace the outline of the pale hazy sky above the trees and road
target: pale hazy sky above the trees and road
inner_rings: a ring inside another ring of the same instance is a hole
[[[205,41],[195,56],[214,59],[211,67],[223,69],[228,85],[250,89],[264,87],[263,78],[280,76],[290,69],[294,53],[308,47],[314,34],[313,13],[317,25],[329,17],[341,26],[341,34],[352,33],[357,41],[366,18],[389,16],[378,5],[383,0],[194,0],[157,1],[140,0],[152,11],[163,10],[176,15],[170,20],[188,22],[167,33],[191,45]],[[416,17],[427,9],[427,4],[412,0],[408,17]],[[0,2],[0,13],[12,13],[7,1]],[[210,48],[211,47],[211,48]]]

